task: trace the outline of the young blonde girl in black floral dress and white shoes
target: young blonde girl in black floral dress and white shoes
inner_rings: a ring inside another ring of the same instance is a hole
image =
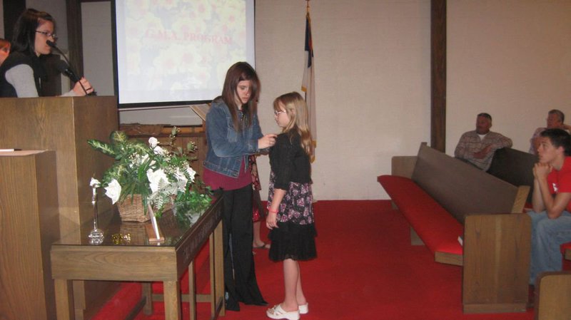
[[[298,320],[308,313],[298,261],[316,257],[310,158],[313,156],[308,108],[299,93],[273,101],[282,133],[270,150],[270,185],[266,226],[271,229],[270,259],[283,261],[285,297],[268,309],[271,319]]]

